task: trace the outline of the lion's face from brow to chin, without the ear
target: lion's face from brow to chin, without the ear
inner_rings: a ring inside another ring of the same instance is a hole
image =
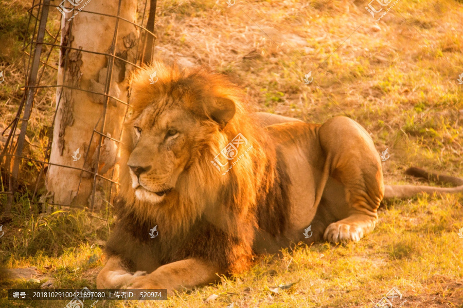
[[[178,106],[158,109],[158,105],[149,105],[133,121],[134,148],[127,162],[135,196],[156,203],[175,188],[199,131],[199,121],[186,110]]]

